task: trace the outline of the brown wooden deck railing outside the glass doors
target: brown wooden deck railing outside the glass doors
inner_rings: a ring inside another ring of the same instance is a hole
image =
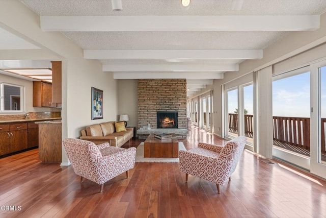
[[[253,134],[253,115],[244,114],[244,133]],[[238,114],[229,113],[229,130],[237,132]],[[326,118],[321,119],[321,152],[326,154]],[[310,151],[310,118],[273,116],[273,139]]]

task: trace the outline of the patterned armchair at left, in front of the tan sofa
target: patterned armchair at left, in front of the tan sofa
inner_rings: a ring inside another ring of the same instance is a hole
[[[63,141],[73,171],[80,176],[100,185],[100,192],[106,181],[133,168],[136,149],[123,149],[110,146],[109,143],[99,145],[82,139],[66,138]]]

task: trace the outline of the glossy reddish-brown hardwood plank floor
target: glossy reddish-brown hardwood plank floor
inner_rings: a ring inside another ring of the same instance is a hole
[[[197,128],[182,141],[226,143]],[[71,166],[42,164],[36,149],[0,159],[0,217],[326,217],[326,182],[273,162],[245,150],[220,194],[191,175],[185,183],[178,163],[136,163],[99,193]]]

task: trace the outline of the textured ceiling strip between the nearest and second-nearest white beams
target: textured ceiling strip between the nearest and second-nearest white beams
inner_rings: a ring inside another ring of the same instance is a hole
[[[264,49],[284,32],[64,32],[83,49]]]

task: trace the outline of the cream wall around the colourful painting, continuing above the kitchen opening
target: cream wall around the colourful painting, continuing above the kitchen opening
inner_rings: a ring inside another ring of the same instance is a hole
[[[0,1],[0,27],[62,60],[63,139],[79,137],[79,130],[90,124],[116,119],[117,86],[112,73],[103,72],[97,61],[85,60],[79,46],[59,32],[41,31],[40,17],[18,0]],[[92,86],[103,90],[103,119],[91,120]],[[68,163],[65,153],[62,161]]]

